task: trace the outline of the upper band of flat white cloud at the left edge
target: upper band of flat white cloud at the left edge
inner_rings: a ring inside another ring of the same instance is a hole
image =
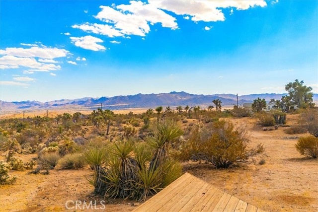
[[[29,49],[24,48],[5,48],[5,50],[0,50],[1,55],[24,57],[24,58],[44,58],[44,59],[54,59],[66,57],[69,51],[65,49],[58,48],[48,48],[48,47],[31,47]]]

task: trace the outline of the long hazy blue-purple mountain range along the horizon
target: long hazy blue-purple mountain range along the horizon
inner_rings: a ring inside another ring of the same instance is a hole
[[[264,94],[249,94],[239,96],[239,104],[251,103],[254,99],[264,98],[266,101],[270,99],[281,99],[286,94],[264,93]],[[50,102],[39,101],[21,101],[21,102],[5,102],[0,100],[0,113],[8,111],[23,111],[23,110],[39,110],[39,109],[94,109],[102,104],[104,109],[118,110],[126,108],[146,108],[157,106],[208,106],[213,105],[214,99],[220,99],[222,105],[233,105],[237,103],[235,94],[213,94],[213,95],[197,95],[186,92],[170,92],[159,94],[136,94],[128,96],[100,97],[91,98],[85,97],[80,99],[60,99]],[[318,100],[318,94],[314,94],[314,100]]]

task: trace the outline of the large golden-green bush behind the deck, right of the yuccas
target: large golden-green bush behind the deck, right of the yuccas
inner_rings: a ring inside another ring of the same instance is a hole
[[[244,129],[235,128],[231,122],[222,120],[210,127],[194,127],[188,141],[181,147],[188,159],[204,160],[216,168],[227,168],[238,162],[250,163],[254,156],[263,154],[262,144],[256,147],[249,147],[248,144]]]

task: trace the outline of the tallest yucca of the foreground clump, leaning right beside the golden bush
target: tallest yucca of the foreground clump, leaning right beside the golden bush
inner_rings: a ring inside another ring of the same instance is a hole
[[[158,168],[166,159],[168,159],[168,148],[171,141],[180,137],[183,131],[176,122],[166,120],[158,123],[154,137],[147,137],[148,144],[156,148],[153,158],[150,161],[149,170]]]

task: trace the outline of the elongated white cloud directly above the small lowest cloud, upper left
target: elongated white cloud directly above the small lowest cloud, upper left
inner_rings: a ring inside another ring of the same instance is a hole
[[[95,33],[99,35],[107,35],[108,37],[119,37],[123,36],[123,34],[115,29],[113,26],[107,25],[107,24],[91,24],[91,23],[84,23],[84,24],[75,24],[72,26],[76,29],[81,29],[85,32]]]

